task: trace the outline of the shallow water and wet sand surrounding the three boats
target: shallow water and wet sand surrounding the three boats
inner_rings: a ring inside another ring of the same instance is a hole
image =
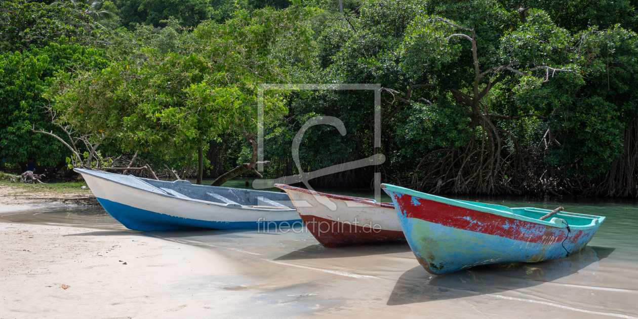
[[[231,181],[232,186],[245,181]],[[238,185],[235,185],[238,184]],[[244,186],[245,187],[245,186]],[[325,189],[318,189],[325,191]],[[331,191],[335,193],[334,191]],[[343,195],[372,197],[367,192]],[[638,205],[579,197],[452,197],[510,207],[602,215],[590,244],[562,260],[475,267],[446,276],[427,273],[407,244],[324,248],[305,228],[174,230],[144,235],[215,249],[238,263],[237,276],[184,283],[226,296],[231,316],[440,316],[443,318],[638,317]],[[122,230],[101,207],[4,212],[0,221]],[[96,232],[100,234],[100,232]],[[105,232],[108,234],[108,232]],[[214,269],[214,265],[211,265]],[[239,299],[238,299],[239,300]]]

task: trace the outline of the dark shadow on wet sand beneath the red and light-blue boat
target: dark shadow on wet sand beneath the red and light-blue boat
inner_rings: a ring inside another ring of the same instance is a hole
[[[575,274],[609,256],[615,248],[587,246],[580,253],[549,262],[504,263],[436,276],[420,265],[401,275],[388,306],[457,299],[527,288]]]

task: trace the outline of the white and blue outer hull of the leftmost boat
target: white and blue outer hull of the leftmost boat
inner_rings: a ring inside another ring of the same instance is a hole
[[[226,207],[204,200],[177,198],[138,189],[87,172],[80,174],[108,214],[132,230],[188,227],[240,229],[260,228],[265,223],[278,226],[301,223],[294,209]]]

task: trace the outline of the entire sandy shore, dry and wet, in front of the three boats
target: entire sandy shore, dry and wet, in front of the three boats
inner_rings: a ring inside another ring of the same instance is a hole
[[[2,211],[0,318],[638,317],[635,232],[432,276],[407,244],[328,249],[302,228],[141,233],[100,209]]]

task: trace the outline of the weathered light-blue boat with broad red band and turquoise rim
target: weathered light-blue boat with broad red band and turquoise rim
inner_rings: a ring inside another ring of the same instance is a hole
[[[510,208],[438,197],[382,184],[408,244],[432,274],[477,265],[556,260],[578,253],[605,218],[547,209]]]

